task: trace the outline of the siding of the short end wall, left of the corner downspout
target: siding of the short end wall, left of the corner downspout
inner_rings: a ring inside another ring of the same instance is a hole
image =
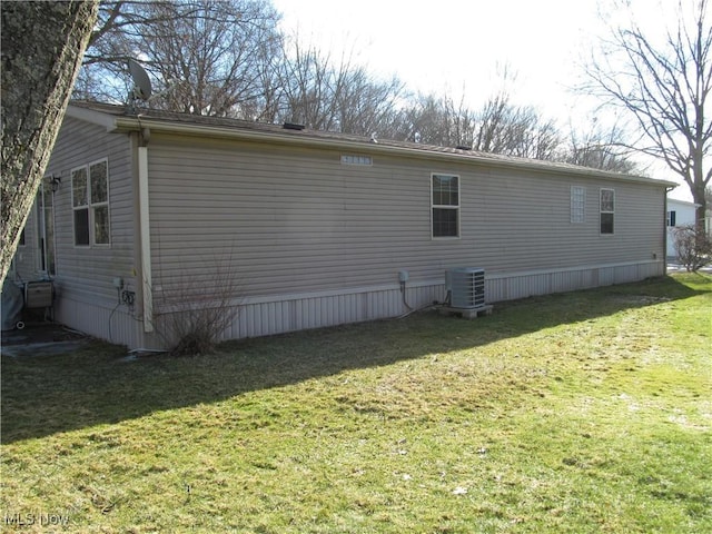
[[[110,245],[77,247],[73,240],[71,169],[108,158]],[[140,325],[119,304],[115,278],[136,290],[136,211],[131,138],[66,117],[47,174],[61,176],[55,196],[57,240],[56,318],[88,334],[140,344]]]

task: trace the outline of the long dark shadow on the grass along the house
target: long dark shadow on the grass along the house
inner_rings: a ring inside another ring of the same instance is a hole
[[[700,285],[710,277],[699,275]],[[214,403],[259,389],[475,348],[543,328],[685,299],[701,293],[675,278],[531,297],[476,320],[414,314],[384,320],[233,342],[201,357],[155,355],[89,343],[62,355],[2,356],[2,443],[111,424],[155,411]]]

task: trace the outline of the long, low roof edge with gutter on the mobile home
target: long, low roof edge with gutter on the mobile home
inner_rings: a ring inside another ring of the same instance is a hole
[[[141,131],[145,129],[167,132],[201,135],[217,138],[263,140],[274,144],[332,147],[343,150],[392,154],[424,159],[445,159],[504,168],[518,168],[540,172],[566,174],[600,177],[622,181],[637,181],[661,187],[676,187],[678,184],[649,177],[624,175],[571,164],[481,152],[454,147],[441,147],[392,139],[373,139],[363,136],[338,134],[312,129],[296,129],[294,125],[271,125],[225,117],[206,117],[178,113],[149,108],[135,108],[109,103],[72,101],[67,116],[93,122],[108,131]]]

